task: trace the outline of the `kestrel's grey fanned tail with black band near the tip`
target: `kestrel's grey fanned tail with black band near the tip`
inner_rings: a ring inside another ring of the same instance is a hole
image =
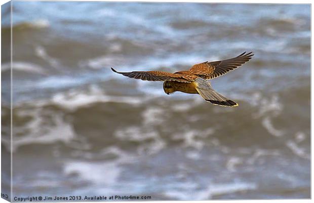
[[[197,91],[206,101],[214,105],[219,105],[223,107],[238,107],[239,106],[234,101],[216,92],[208,81],[200,78],[195,82],[197,82],[198,84],[196,88]]]

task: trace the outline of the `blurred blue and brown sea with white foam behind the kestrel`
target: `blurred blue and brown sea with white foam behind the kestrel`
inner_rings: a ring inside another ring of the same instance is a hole
[[[310,197],[310,5],[15,1],[12,20],[13,196]],[[238,108],[110,70],[244,51],[212,80]],[[2,76],[9,122],[9,62]]]

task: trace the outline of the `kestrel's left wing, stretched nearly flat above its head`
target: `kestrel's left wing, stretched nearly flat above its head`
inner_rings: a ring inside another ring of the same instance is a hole
[[[177,81],[177,82],[193,82],[197,79],[196,76],[180,74],[180,73],[168,73],[163,71],[133,71],[133,72],[117,72],[114,69],[111,70],[115,73],[122,74],[129,78],[141,79],[147,81]]]

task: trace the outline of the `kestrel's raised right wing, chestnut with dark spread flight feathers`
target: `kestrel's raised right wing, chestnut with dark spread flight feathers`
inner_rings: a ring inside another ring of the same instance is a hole
[[[237,69],[239,66],[249,61],[253,55],[254,54],[252,52],[250,53],[244,52],[234,58],[212,62],[206,61],[204,63],[193,65],[191,69],[188,70],[188,72],[190,72],[191,74],[198,75],[204,79],[213,79],[223,74],[226,74],[229,71]]]

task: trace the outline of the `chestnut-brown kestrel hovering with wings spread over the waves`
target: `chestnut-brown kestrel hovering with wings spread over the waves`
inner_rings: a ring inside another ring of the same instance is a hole
[[[147,81],[165,81],[164,91],[166,94],[171,94],[175,91],[200,94],[206,101],[214,105],[237,107],[239,106],[237,103],[216,92],[210,85],[209,80],[237,69],[249,61],[253,55],[252,52],[244,52],[234,58],[195,64],[187,71],[178,71],[176,73],[163,71],[117,72],[112,67],[111,70],[129,78]]]

